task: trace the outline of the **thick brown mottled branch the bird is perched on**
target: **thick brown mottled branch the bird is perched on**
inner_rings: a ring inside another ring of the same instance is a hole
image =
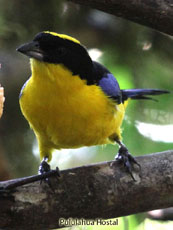
[[[136,158],[136,181],[118,162],[103,162],[61,171],[60,179],[3,190],[1,229],[54,229],[60,218],[115,218],[173,206],[173,150]]]

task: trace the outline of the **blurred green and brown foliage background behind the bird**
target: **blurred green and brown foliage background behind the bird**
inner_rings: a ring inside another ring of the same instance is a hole
[[[0,0],[0,83],[5,88],[6,97],[4,114],[0,121],[0,150],[1,161],[5,162],[3,165],[6,165],[9,177],[13,178],[36,173],[39,165],[38,154],[32,154],[33,149],[34,153],[38,153],[34,134],[23,118],[18,103],[20,89],[30,75],[29,61],[16,53],[15,49],[43,30],[69,34],[79,39],[87,48],[102,51],[100,62],[116,76],[123,89],[172,90],[171,37],[65,0]],[[173,143],[153,141],[152,138],[139,133],[136,127],[136,121],[156,125],[173,124],[172,95],[163,95],[158,99],[158,103],[129,103],[122,129],[124,143],[133,154],[173,148]],[[77,153],[69,151],[69,155],[61,152],[54,164],[62,162],[60,168],[63,168],[111,160],[117,150],[117,146],[108,145],[89,150],[84,148]],[[64,159],[68,159],[64,165],[62,155]],[[140,224],[144,218],[139,218],[139,215],[119,218],[119,226],[114,229],[144,229],[144,225]],[[95,226],[85,229],[101,228]],[[110,228],[104,226],[103,229]]]

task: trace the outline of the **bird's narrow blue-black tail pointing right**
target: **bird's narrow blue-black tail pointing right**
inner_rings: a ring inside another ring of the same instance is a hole
[[[150,95],[160,95],[165,93],[170,93],[168,90],[160,90],[160,89],[125,89],[121,90],[122,92],[122,101],[124,102],[128,98],[131,99],[147,99],[154,100],[152,97],[148,97]]]

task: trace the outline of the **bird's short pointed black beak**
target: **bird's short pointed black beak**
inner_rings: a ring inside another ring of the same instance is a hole
[[[39,61],[43,60],[43,51],[39,47],[39,43],[37,41],[29,42],[24,45],[19,46],[16,49],[18,52],[25,54],[30,58],[35,58]]]

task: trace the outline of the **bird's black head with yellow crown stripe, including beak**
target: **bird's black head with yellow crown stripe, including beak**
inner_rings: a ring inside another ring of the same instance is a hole
[[[63,64],[73,75],[80,75],[88,83],[91,81],[92,60],[75,38],[54,32],[41,32],[32,42],[20,46],[17,51],[42,62]]]

